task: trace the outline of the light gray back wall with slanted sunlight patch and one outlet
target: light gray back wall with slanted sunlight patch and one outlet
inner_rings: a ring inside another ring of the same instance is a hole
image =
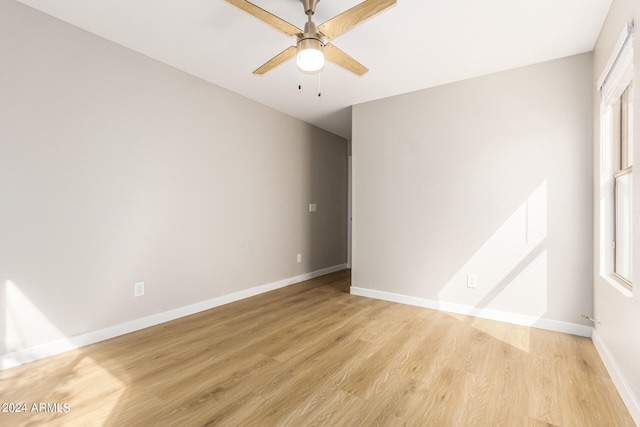
[[[355,106],[352,285],[586,328],[591,82],[582,54]]]

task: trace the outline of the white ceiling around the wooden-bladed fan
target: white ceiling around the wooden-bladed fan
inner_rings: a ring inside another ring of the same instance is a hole
[[[398,0],[333,40],[367,74],[328,63],[318,77],[295,59],[253,75],[295,39],[223,0],[18,1],[345,138],[352,105],[592,50],[611,4]],[[314,22],[360,2],[321,0]],[[253,3],[297,27],[306,21],[299,0]]]

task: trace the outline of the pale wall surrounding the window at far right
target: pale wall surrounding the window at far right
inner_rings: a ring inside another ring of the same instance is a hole
[[[628,21],[635,19],[634,45],[634,135],[640,135],[640,41],[638,25],[640,24],[640,10],[637,1],[614,0],[609,15],[604,23],[600,37],[593,54],[594,93],[593,121],[594,131],[594,312],[600,322],[595,325],[594,341],[598,345],[601,355],[608,362],[618,389],[632,411],[634,419],[640,424],[640,173],[634,172],[634,277],[636,290],[630,294],[621,291],[607,277],[601,265],[604,263],[600,248],[610,243],[601,241],[600,227],[604,218],[601,216],[601,199],[606,188],[601,188],[598,171],[601,165],[600,157],[600,94],[597,81],[605,72],[605,66],[613,54],[613,49],[623,28]],[[634,166],[640,164],[640,150],[638,138],[635,138]]]

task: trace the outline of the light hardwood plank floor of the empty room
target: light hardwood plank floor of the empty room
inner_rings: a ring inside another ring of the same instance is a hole
[[[635,425],[587,338],[349,285],[345,270],[0,372],[0,401],[27,404],[0,425]]]

